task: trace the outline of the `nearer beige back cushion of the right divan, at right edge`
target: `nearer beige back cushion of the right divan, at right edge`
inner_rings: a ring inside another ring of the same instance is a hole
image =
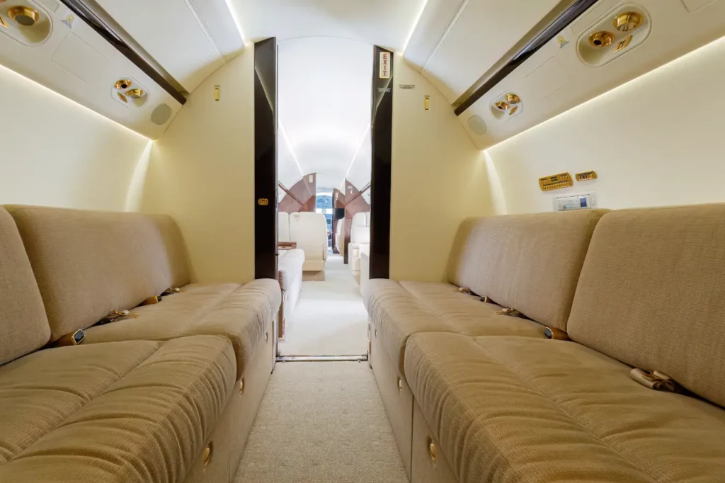
[[[725,204],[605,215],[568,328],[576,342],[725,405]]]

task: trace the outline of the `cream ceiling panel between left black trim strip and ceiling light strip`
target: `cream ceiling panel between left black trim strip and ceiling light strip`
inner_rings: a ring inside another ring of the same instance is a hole
[[[189,92],[224,64],[214,36],[223,39],[220,27],[230,25],[213,22],[231,17],[224,0],[96,1]],[[233,21],[231,28],[239,36]]]

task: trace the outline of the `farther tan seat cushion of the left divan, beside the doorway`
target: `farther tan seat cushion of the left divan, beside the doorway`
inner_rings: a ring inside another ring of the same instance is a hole
[[[236,352],[236,372],[244,372],[254,348],[279,310],[281,290],[275,280],[241,286],[188,286],[162,302],[133,309],[138,318],[86,329],[83,344],[126,340],[169,340],[189,335],[227,337]]]

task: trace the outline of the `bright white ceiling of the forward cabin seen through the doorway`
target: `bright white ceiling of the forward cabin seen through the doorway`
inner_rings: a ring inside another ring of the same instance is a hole
[[[279,178],[318,173],[318,188],[337,188],[353,160],[370,157],[373,47],[295,38],[280,42],[278,55]]]

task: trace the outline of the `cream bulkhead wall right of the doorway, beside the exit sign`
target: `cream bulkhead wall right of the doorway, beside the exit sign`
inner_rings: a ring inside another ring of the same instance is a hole
[[[460,223],[493,214],[486,161],[444,96],[400,56],[394,69],[396,86],[415,89],[395,87],[393,96],[390,276],[442,281]],[[431,96],[428,111],[425,95]],[[421,212],[426,223],[410,216]]]

